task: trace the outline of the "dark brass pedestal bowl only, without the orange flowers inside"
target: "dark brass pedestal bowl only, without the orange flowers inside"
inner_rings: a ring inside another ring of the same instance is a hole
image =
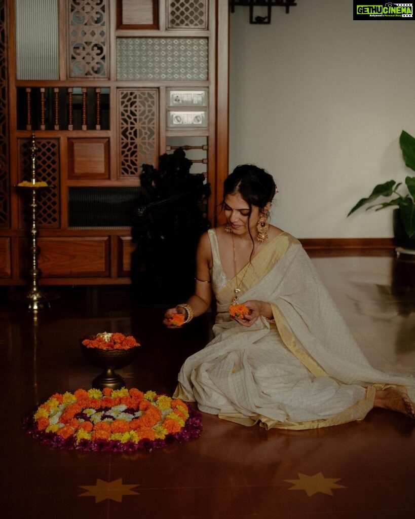
[[[115,369],[126,367],[136,358],[140,346],[134,346],[128,350],[102,350],[100,348],[87,348],[82,344],[84,339],[94,339],[95,336],[79,339],[80,348],[84,357],[95,366],[103,368],[103,372],[92,381],[92,387],[103,389],[120,389],[125,387],[125,380],[115,373]]]

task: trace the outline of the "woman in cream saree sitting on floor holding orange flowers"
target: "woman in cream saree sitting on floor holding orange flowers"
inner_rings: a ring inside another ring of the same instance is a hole
[[[164,316],[169,327],[175,313],[200,316],[213,289],[215,338],[186,360],[175,397],[267,429],[343,424],[373,407],[415,418],[415,379],[368,363],[299,241],[268,224],[275,190],[253,165],[225,180],[227,223],[201,237],[195,294]],[[231,318],[236,304],[248,315]]]

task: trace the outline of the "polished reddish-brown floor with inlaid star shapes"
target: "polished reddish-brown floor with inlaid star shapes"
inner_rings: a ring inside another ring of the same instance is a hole
[[[415,374],[415,263],[313,262],[371,363]],[[139,358],[120,370],[127,386],[172,393],[184,359],[209,340],[212,316],[165,330],[163,307],[134,304],[130,291],[47,287],[61,297],[36,322],[0,288],[3,517],[415,517],[415,421],[380,409],[363,422],[301,432],[245,428],[203,414],[201,438],[152,453],[67,452],[26,436],[21,421],[35,405],[54,392],[89,388],[99,373],[79,349],[86,333],[141,339]]]

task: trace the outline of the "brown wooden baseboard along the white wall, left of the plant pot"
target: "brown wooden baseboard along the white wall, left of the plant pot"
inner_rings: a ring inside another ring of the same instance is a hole
[[[309,256],[394,256],[393,238],[300,238]]]

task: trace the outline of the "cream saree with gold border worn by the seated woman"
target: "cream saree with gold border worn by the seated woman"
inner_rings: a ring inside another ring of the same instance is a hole
[[[415,399],[415,379],[373,368],[356,344],[301,244],[287,233],[270,240],[240,273],[240,302],[271,304],[275,325],[230,320],[235,279],[220,264],[208,231],[217,301],[214,339],[189,357],[175,397],[246,426],[314,429],[361,420],[376,389],[397,386]]]

